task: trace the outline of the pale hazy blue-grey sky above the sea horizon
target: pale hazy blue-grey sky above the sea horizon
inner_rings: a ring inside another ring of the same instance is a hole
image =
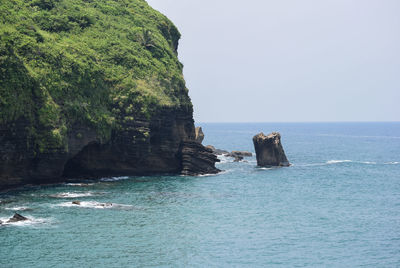
[[[400,121],[399,0],[148,0],[196,122]]]

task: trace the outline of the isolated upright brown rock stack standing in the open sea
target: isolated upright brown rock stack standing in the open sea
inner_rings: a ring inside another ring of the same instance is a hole
[[[253,137],[253,143],[258,166],[290,166],[281,144],[281,134],[278,132],[272,132],[267,136],[261,132]]]

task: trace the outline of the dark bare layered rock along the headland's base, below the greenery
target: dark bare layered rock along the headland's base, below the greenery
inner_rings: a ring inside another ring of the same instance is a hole
[[[0,190],[25,184],[122,175],[217,173],[217,157],[196,142],[191,111],[162,110],[101,142],[88,126],[74,126],[68,152],[35,154],[26,122],[0,125]]]

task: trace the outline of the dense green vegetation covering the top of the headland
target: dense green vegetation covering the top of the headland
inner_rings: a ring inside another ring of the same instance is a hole
[[[0,1],[0,124],[23,118],[39,152],[74,124],[100,137],[162,107],[191,108],[180,34],[144,0]]]

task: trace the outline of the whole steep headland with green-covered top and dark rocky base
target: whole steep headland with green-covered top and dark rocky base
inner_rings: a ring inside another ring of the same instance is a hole
[[[180,34],[145,1],[3,1],[0,21],[0,189],[218,172],[192,144]]]

